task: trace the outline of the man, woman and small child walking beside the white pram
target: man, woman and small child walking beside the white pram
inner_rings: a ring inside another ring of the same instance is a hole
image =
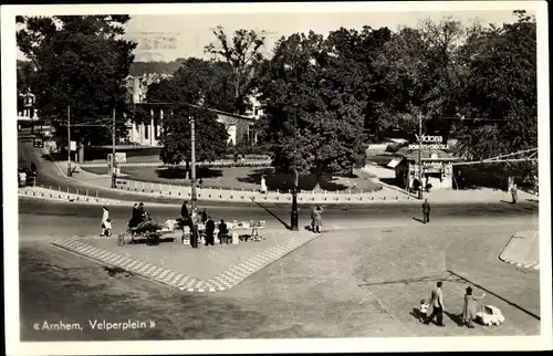
[[[428,315],[429,308],[426,312],[426,315],[425,315],[424,311],[421,310],[421,314],[422,314],[421,322],[424,322],[427,325],[430,324],[430,322],[434,320],[434,317],[436,317],[438,326],[446,326],[446,325],[444,325],[445,305],[444,305],[444,292],[441,291],[441,285],[442,285],[441,282],[438,282],[436,284],[436,287],[432,290],[432,292],[430,294],[430,300],[429,300],[428,305],[425,303],[425,301],[421,301],[421,305],[425,305],[425,311],[426,311],[427,306],[432,310],[430,315]],[[459,315],[461,318],[460,326],[466,325],[470,328],[474,327],[472,322],[473,322],[476,314],[477,314],[477,306],[478,306],[477,301],[482,300],[484,296],[486,296],[486,294],[482,294],[481,296],[474,296],[472,294],[472,287],[470,285],[467,287],[466,293],[465,293],[465,304],[462,307],[462,312]]]

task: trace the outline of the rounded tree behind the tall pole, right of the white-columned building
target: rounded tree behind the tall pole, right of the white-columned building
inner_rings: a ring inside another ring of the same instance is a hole
[[[164,117],[160,158],[166,164],[190,161],[190,122],[196,118],[196,158],[213,160],[227,149],[228,133],[207,108],[229,111],[233,105],[229,66],[221,62],[188,59],[174,77],[153,84],[148,102],[173,103],[173,115]],[[189,104],[204,106],[194,108]]]

